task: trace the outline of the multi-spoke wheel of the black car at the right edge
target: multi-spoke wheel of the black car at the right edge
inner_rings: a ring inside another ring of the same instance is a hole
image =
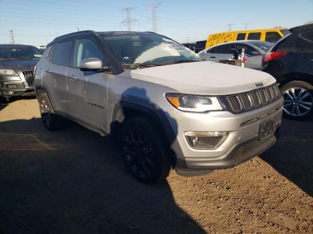
[[[304,120],[313,115],[313,86],[304,81],[291,81],[280,88],[284,97],[284,117]]]

